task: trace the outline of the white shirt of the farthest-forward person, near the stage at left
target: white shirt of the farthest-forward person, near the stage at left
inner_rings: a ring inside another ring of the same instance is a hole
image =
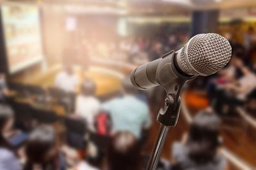
[[[64,90],[65,92],[75,92],[78,84],[76,74],[68,74],[66,71],[58,73],[55,79],[56,87]]]

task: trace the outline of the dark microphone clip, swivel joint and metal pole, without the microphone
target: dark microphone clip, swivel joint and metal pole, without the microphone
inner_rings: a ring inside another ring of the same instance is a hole
[[[166,90],[166,97],[163,106],[157,115],[160,123],[154,147],[150,159],[148,160],[147,170],[155,170],[161,156],[166,136],[170,127],[175,127],[180,113],[180,92],[186,81],[193,80],[196,76],[180,74],[175,67],[175,53],[173,51],[163,55],[163,61],[157,69],[157,82]],[[172,76],[170,76],[172,73]]]

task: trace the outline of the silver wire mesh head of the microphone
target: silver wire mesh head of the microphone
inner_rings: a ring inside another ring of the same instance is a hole
[[[198,34],[182,48],[180,60],[188,74],[204,75],[216,73],[231,57],[231,46],[219,34]]]

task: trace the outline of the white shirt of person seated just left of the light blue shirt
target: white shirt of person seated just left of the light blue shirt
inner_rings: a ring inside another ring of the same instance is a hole
[[[93,96],[77,96],[76,114],[86,118],[88,124],[93,124],[93,119],[97,115],[100,102]]]

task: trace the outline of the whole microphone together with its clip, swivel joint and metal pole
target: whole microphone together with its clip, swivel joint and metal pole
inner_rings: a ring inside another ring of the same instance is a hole
[[[161,85],[166,90],[164,104],[157,115],[159,132],[148,160],[147,170],[156,169],[170,127],[175,127],[180,112],[180,92],[186,81],[208,76],[224,67],[231,57],[228,40],[218,34],[198,34],[177,52],[170,51],[160,59],[136,67],[131,83],[137,89]]]

